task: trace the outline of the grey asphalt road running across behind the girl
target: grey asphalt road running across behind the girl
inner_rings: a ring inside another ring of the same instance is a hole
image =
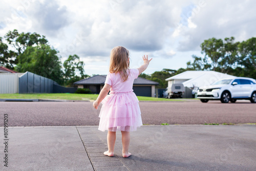
[[[256,104],[209,101],[140,102],[143,124],[256,123]],[[101,106],[101,105],[100,105]],[[98,125],[92,102],[0,102],[0,126]]]

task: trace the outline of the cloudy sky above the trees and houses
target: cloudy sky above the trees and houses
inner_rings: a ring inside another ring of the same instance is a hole
[[[153,57],[145,71],[186,68],[203,40],[256,36],[255,1],[1,0],[0,37],[13,29],[45,35],[61,61],[77,54],[86,74],[106,74],[113,47],[131,53],[131,68]]]

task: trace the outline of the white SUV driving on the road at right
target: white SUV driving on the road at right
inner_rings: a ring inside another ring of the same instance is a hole
[[[256,103],[256,80],[245,77],[221,79],[210,86],[200,87],[197,97],[205,103],[209,100],[234,103],[237,99],[247,99]]]

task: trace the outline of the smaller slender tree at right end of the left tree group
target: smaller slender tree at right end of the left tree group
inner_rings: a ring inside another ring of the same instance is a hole
[[[89,75],[84,74],[84,63],[80,61],[79,56],[76,54],[70,55],[63,63],[63,67],[66,86],[72,87],[74,82],[89,77]]]

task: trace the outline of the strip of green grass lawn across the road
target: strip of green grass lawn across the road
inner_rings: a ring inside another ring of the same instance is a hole
[[[41,93],[41,94],[0,94],[0,99],[62,99],[62,100],[96,100],[98,94]],[[182,99],[165,99],[137,96],[140,101],[184,101]]]

